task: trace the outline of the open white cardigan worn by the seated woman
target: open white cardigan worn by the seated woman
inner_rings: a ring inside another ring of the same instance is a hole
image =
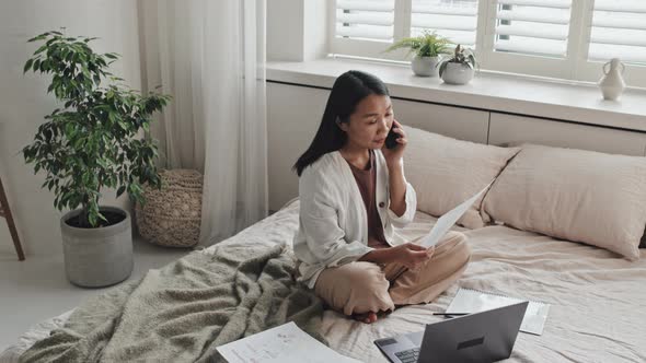
[[[404,243],[394,227],[413,221],[417,199],[406,183],[406,211],[397,216],[390,210],[389,173],[381,150],[374,151],[377,183],[374,201],[391,246]],[[299,281],[310,289],[325,268],[359,259],[368,247],[368,214],[350,166],[338,151],[327,153],[302,172],[299,179],[299,231],[293,253],[299,259]]]

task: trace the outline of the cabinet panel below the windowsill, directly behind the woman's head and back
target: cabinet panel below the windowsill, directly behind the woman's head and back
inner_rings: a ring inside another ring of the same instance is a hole
[[[328,96],[327,90],[267,83],[270,210],[298,197],[298,176],[291,166],[312,142]],[[406,126],[462,140],[487,141],[487,112],[402,99],[393,99],[393,108],[395,117]]]

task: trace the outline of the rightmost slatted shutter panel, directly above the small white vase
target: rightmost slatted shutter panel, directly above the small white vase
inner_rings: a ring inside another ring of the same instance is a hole
[[[646,65],[646,1],[596,0],[592,11],[588,59]]]

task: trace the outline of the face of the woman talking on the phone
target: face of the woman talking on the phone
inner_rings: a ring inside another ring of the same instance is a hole
[[[348,136],[346,145],[381,149],[393,119],[390,97],[371,94],[357,104],[349,122],[341,122],[339,127]]]

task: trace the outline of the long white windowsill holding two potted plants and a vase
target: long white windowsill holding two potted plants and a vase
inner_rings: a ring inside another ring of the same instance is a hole
[[[415,77],[408,66],[338,58],[268,61],[267,80],[332,89],[336,77],[350,69],[379,77],[393,97],[646,131],[643,90],[626,90],[614,102],[604,101],[596,85],[485,72],[469,84],[449,85],[439,78]]]

